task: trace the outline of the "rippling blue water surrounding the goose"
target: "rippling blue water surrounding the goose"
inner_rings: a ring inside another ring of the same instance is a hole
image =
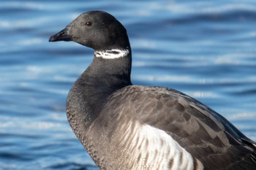
[[[80,13],[127,28],[132,82],[189,94],[256,140],[256,1],[0,1],[0,169],[97,169],[65,99],[93,50],[49,43]]]

